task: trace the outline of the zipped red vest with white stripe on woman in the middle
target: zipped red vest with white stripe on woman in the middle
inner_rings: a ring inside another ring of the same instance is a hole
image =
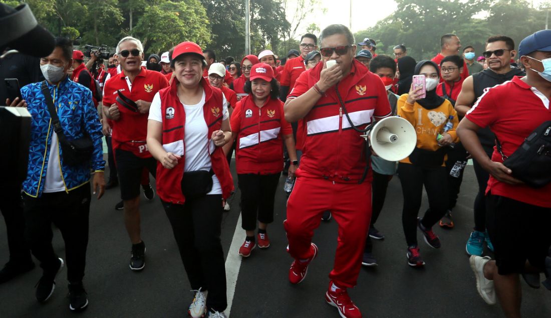
[[[281,172],[283,103],[270,98],[262,108],[258,108],[250,95],[241,99],[240,103],[241,129],[235,149],[237,173]]]

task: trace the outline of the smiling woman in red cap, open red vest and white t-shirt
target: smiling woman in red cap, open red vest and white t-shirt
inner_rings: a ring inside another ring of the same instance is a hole
[[[190,316],[225,317],[222,199],[234,189],[222,150],[231,140],[228,103],[203,78],[206,62],[197,44],[177,45],[171,67],[175,80],[155,95],[149,112],[147,145],[159,161],[157,193],[195,292]]]

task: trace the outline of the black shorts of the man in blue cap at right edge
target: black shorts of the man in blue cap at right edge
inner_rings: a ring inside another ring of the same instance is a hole
[[[551,208],[488,194],[486,222],[500,275],[523,273],[527,260],[544,270],[551,245]]]

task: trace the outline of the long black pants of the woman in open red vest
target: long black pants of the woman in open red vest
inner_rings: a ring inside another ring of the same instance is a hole
[[[186,199],[183,205],[163,201],[191,288],[208,290],[207,307],[220,312],[228,306],[221,202],[220,194]]]

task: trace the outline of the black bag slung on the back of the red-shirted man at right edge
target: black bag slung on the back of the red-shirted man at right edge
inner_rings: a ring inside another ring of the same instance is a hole
[[[551,120],[532,131],[509,157],[501,150],[498,137],[495,145],[503,165],[511,169],[513,177],[532,188],[541,188],[551,182]]]

